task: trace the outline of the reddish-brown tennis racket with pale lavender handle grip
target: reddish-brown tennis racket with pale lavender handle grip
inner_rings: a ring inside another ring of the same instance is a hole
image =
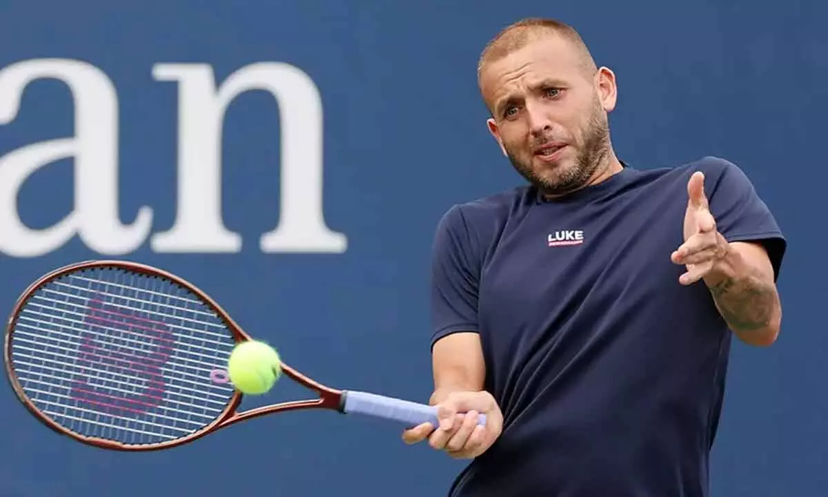
[[[437,425],[436,408],[327,387],[282,363],[317,398],[238,412],[233,346],[251,340],[181,277],[147,265],[88,261],[32,283],[8,321],[4,356],[17,397],[41,422],[79,442],[147,451],[296,409],[323,408]],[[480,415],[479,424],[485,424]]]

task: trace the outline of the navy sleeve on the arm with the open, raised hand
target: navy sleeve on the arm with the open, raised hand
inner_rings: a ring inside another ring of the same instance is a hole
[[[718,160],[724,166],[718,180],[707,186],[710,191],[706,194],[716,227],[729,242],[762,244],[768,251],[776,279],[787,247],[782,230],[744,171],[730,162]]]

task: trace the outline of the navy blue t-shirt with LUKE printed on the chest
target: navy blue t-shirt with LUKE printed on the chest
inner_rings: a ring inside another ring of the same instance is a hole
[[[436,230],[432,344],[479,333],[503,433],[456,497],[701,497],[731,332],[703,281],[670,260],[687,181],[729,241],[777,272],[773,215],[730,162],[623,171],[566,198],[527,186],[452,207]]]

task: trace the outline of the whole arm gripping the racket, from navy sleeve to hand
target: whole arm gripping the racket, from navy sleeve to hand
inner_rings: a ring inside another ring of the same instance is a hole
[[[440,426],[423,423],[403,433],[407,443],[428,438],[429,445],[450,456],[479,456],[500,435],[503,416],[484,390],[486,368],[477,333],[478,284],[482,266],[477,236],[460,207],[450,209],[437,226],[431,263],[431,336],[434,391]],[[478,426],[478,415],[486,426]]]

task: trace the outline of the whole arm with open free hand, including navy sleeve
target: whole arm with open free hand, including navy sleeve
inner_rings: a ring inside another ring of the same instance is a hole
[[[724,163],[707,188],[704,174],[691,175],[684,244],[671,257],[686,266],[681,284],[705,282],[739,339],[767,346],[777,339],[782,322],[776,282],[786,242],[744,172]]]

